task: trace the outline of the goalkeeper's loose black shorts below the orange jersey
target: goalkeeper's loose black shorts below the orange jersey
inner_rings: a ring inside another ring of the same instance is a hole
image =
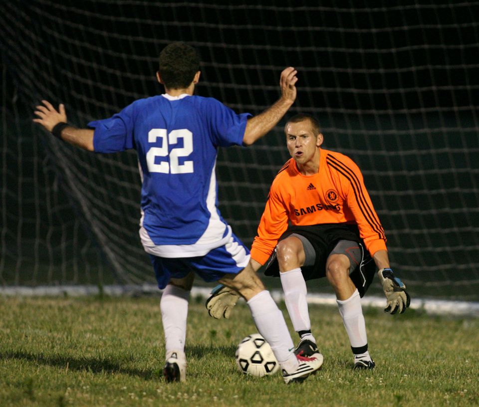
[[[326,276],[326,260],[340,240],[357,242],[361,248],[361,262],[349,276],[358,289],[360,296],[364,296],[374,279],[376,264],[365,249],[356,224],[326,223],[311,226],[289,226],[279,240],[283,240],[293,233],[304,236],[311,243],[316,254],[313,265],[301,267],[301,272],[306,281]],[[266,264],[264,274],[267,276],[279,276],[276,249]]]

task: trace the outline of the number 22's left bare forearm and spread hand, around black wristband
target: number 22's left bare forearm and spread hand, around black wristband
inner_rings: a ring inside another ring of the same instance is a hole
[[[35,107],[34,114],[38,118],[33,119],[35,123],[42,125],[45,130],[51,132],[59,123],[66,123],[65,106],[60,104],[58,110],[47,100],[41,101],[43,105]],[[61,130],[60,137],[62,140],[80,147],[84,150],[94,151],[93,149],[93,130],[77,129],[72,126],[66,126]]]

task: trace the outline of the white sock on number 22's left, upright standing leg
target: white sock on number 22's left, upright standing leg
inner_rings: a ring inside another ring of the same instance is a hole
[[[183,288],[168,284],[163,290],[160,309],[167,356],[172,351],[184,353],[189,299],[190,291]]]

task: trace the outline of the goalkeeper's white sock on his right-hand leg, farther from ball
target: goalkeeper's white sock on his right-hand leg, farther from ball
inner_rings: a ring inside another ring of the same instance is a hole
[[[361,308],[361,297],[356,289],[347,300],[336,300],[339,313],[343,317],[344,327],[349,336],[351,347],[360,348],[368,344],[366,336],[366,324]]]

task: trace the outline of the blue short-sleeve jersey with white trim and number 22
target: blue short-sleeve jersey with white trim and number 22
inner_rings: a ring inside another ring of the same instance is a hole
[[[242,144],[248,116],[213,98],[161,95],[88,124],[96,152],[138,153],[146,251],[192,257],[225,244],[231,228],[217,208],[216,158],[219,146]]]

